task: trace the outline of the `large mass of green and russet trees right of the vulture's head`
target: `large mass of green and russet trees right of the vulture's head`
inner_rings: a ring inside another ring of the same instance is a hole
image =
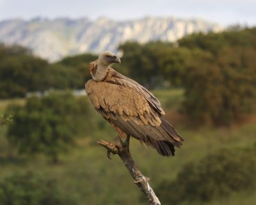
[[[127,42],[119,49],[132,79],[184,87],[183,109],[198,125],[231,125],[256,110],[256,28],[192,34],[179,47]]]

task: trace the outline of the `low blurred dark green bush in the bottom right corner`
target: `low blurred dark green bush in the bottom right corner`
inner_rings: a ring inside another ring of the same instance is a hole
[[[182,204],[212,201],[233,192],[250,191],[256,187],[255,153],[255,150],[221,149],[199,162],[188,163],[177,179],[159,185],[159,198],[164,204]]]

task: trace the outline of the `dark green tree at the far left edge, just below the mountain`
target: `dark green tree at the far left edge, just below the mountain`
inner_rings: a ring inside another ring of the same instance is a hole
[[[0,97],[24,96],[40,91],[47,61],[26,54],[6,56],[0,63]]]

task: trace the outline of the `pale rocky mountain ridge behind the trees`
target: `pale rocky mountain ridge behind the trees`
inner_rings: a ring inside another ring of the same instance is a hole
[[[115,51],[120,43],[136,40],[175,42],[194,32],[221,31],[221,27],[200,19],[145,17],[138,20],[115,21],[105,17],[97,20],[43,19],[3,20],[0,22],[0,42],[17,43],[33,50],[49,61],[83,52]]]

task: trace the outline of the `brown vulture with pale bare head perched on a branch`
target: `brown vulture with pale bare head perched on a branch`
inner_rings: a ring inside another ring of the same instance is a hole
[[[160,155],[174,156],[174,148],[184,139],[164,119],[161,103],[138,82],[111,68],[113,63],[120,64],[120,58],[105,51],[89,65],[92,79],[85,90],[93,106],[121,139],[131,135]]]

